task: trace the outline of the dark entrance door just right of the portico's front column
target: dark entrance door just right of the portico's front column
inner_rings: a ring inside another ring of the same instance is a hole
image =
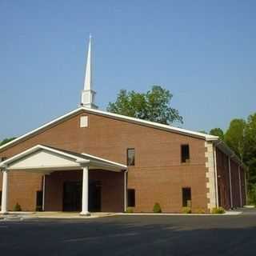
[[[102,209],[102,184],[101,182],[91,181],[89,183],[89,211],[97,212]]]

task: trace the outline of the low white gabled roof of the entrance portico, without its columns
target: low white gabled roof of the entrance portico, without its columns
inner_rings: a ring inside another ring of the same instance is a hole
[[[127,166],[98,158],[91,154],[79,154],[51,146],[37,145],[0,163],[0,169],[34,170],[50,173],[55,170],[79,170],[89,166],[89,170],[126,170]]]

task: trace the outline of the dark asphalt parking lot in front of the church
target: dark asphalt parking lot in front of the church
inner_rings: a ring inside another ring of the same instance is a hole
[[[255,255],[256,210],[0,222],[1,255]]]

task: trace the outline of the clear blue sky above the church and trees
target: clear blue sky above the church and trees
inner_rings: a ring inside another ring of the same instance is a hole
[[[0,140],[74,110],[89,34],[100,109],[158,84],[191,130],[256,111],[256,1],[0,0]]]

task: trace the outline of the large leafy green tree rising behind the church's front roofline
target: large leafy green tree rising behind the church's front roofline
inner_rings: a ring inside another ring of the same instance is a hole
[[[170,106],[172,98],[170,91],[161,86],[152,86],[146,94],[120,90],[116,102],[110,102],[106,109],[112,113],[162,124],[182,123],[178,110]]]

